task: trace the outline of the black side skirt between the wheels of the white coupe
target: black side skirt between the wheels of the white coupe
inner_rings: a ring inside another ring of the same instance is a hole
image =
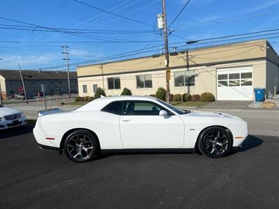
[[[195,148],[140,148],[140,149],[105,149],[101,150],[105,153],[195,153]]]

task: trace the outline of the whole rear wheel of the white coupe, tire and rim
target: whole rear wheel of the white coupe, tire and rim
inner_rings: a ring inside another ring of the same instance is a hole
[[[64,151],[74,162],[88,162],[98,153],[98,139],[87,130],[75,130],[64,141]]]

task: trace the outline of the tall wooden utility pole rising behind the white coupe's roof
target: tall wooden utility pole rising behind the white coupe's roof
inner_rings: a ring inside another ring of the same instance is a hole
[[[170,79],[170,70],[169,70],[169,45],[167,42],[167,13],[165,0],[162,0],[163,6],[163,30],[164,30],[164,40],[165,40],[165,67],[166,67],[166,102],[169,102],[169,79]]]

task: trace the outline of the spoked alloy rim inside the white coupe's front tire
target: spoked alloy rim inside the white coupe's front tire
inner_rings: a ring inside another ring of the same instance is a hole
[[[207,132],[202,140],[202,145],[210,155],[222,155],[229,148],[227,134],[221,130],[211,130]]]

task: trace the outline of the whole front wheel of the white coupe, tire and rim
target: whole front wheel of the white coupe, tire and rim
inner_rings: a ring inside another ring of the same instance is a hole
[[[202,154],[212,158],[225,157],[232,150],[232,144],[231,134],[218,126],[203,130],[197,143]]]

